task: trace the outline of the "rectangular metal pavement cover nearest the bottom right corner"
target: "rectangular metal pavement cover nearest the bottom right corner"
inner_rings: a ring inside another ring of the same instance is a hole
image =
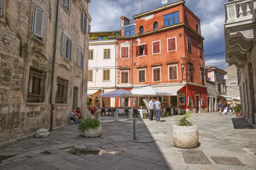
[[[245,166],[239,159],[236,157],[218,157],[218,156],[211,156],[213,161],[216,164],[224,164],[224,165],[234,165],[234,166]]]

